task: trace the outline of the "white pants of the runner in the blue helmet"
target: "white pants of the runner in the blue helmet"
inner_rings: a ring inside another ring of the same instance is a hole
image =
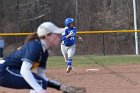
[[[69,47],[61,44],[61,52],[64,56],[65,62],[67,62],[67,59],[72,59],[75,54],[75,44]]]

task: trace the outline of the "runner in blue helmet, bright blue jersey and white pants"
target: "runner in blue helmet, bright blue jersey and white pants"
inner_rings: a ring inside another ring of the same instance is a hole
[[[75,54],[75,43],[76,38],[83,41],[80,36],[76,34],[76,27],[73,18],[65,19],[65,31],[61,36],[61,52],[64,56],[65,62],[67,64],[66,72],[69,73],[72,70],[72,57]]]

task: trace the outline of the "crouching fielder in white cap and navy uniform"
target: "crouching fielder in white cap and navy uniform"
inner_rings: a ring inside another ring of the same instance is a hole
[[[51,22],[42,23],[20,49],[0,61],[0,86],[32,89],[30,93],[47,93],[47,87],[67,91],[66,86],[45,76],[47,49],[59,44],[58,34],[63,31]],[[37,73],[32,72],[34,67]]]

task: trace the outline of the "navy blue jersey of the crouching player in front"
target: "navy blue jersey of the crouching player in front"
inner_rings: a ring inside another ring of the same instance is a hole
[[[4,58],[6,66],[11,68],[21,68],[23,61],[28,61],[33,64],[38,64],[42,68],[46,68],[48,51],[43,52],[40,40],[32,40],[25,44],[21,49],[16,50],[8,57]]]

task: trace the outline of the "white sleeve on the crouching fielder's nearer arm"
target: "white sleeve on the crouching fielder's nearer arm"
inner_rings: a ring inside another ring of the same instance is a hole
[[[23,76],[23,78],[25,79],[25,81],[36,91],[39,92],[41,90],[43,90],[43,88],[37,83],[37,81],[35,80],[32,72],[31,72],[31,67],[32,64],[27,62],[27,61],[23,61],[22,66],[21,66],[21,70],[20,73]]]

